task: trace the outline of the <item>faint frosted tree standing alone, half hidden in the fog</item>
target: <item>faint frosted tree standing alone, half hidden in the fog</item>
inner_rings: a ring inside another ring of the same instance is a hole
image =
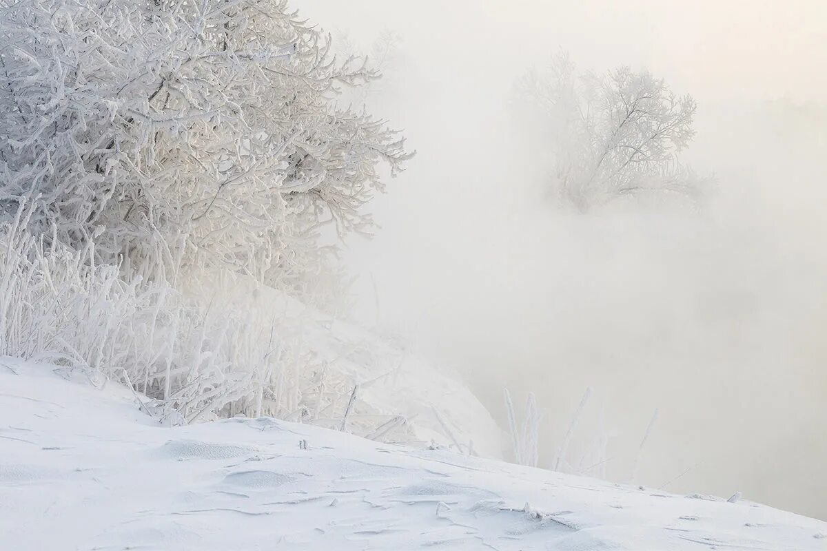
[[[628,67],[579,74],[559,55],[518,88],[542,126],[538,149],[552,163],[554,189],[581,211],[624,196],[698,191],[700,178],[677,158],[695,134],[696,102],[662,79]]]

